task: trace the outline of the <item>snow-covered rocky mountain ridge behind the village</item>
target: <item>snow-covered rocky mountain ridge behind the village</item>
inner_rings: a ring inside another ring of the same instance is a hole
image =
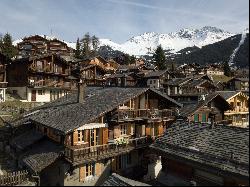
[[[130,55],[147,55],[153,53],[157,46],[161,45],[164,50],[176,53],[186,47],[197,46],[201,48],[233,35],[235,34],[216,27],[206,26],[201,29],[182,29],[169,34],[144,33],[132,37],[123,44],[112,42],[109,39],[100,39],[100,46],[110,46],[113,50]]]

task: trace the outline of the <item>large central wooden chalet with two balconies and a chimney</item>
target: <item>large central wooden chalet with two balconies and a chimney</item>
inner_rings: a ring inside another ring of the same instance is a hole
[[[162,136],[179,103],[149,88],[84,87],[10,123],[11,155],[41,185],[95,184],[143,174],[143,152]],[[144,175],[144,174],[143,174]]]

